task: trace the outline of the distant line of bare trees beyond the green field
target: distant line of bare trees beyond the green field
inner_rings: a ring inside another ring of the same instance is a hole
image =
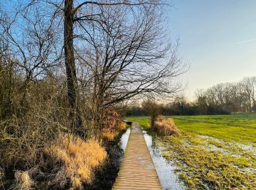
[[[256,111],[256,77],[245,77],[238,83],[219,83],[195,94],[194,102],[179,96],[168,104],[158,104],[162,115],[222,115],[231,113],[251,113]],[[127,116],[148,115],[142,106],[127,108]]]

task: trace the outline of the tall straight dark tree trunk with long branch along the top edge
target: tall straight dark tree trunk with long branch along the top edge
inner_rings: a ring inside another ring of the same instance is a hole
[[[70,106],[76,110],[78,106],[78,80],[76,76],[76,66],[75,66],[75,54],[74,54],[74,23],[81,20],[94,20],[99,21],[97,17],[98,14],[83,12],[86,6],[117,6],[117,5],[127,5],[135,6],[140,4],[146,4],[147,2],[129,3],[121,1],[83,1],[82,3],[74,7],[74,0],[64,1],[64,51],[65,51],[65,65],[67,72],[67,91],[69,97]],[[59,5],[56,5],[59,8]],[[86,9],[86,8],[85,8]],[[84,26],[89,29],[89,26]]]

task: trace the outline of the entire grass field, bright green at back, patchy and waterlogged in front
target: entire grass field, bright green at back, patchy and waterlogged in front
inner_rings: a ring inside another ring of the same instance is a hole
[[[256,114],[173,118],[181,134],[156,140],[188,189],[256,189]],[[151,130],[149,117],[127,120]]]

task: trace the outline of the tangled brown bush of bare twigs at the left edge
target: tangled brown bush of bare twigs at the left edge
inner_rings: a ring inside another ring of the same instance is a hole
[[[28,170],[39,164],[47,142],[69,130],[67,110],[57,108],[59,99],[64,99],[59,83],[49,79],[30,86],[26,94],[20,91],[10,96],[12,104],[6,110],[10,113],[0,122],[0,160],[4,163],[0,167]]]

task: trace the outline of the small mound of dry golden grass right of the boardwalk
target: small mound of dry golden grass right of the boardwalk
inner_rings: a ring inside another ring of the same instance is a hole
[[[157,121],[155,122],[154,127],[157,130],[157,133],[160,135],[171,135],[180,133],[180,131],[176,128],[173,118],[165,119],[162,115],[159,115],[157,117]]]

